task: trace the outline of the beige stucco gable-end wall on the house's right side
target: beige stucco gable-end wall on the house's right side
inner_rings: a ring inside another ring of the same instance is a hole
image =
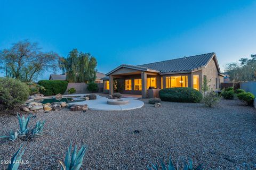
[[[211,89],[213,90],[219,89],[220,79],[219,79],[216,64],[213,60],[211,60],[209,64],[203,69],[203,75],[206,75],[206,79],[207,81],[209,81],[207,85]]]

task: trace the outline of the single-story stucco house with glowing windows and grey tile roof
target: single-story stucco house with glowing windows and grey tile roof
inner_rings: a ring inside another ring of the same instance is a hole
[[[124,85],[122,93],[142,95],[142,98],[147,97],[147,89],[191,87],[201,90],[203,82],[217,90],[224,77],[215,53],[142,65],[122,64],[106,75],[102,78],[104,92],[113,94],[113,83],[119,81]]]

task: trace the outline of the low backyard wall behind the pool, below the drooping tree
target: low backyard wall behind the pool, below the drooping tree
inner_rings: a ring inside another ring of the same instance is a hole
[[[103,83],[97,83],[98,84],[98,92],[103,92]],[[75,88],[76,94],[87,94],[90,93],[90,91],[87,90],[87,84],[86,83],[68,83],[67,90],[65,94],[68,94],[68,89]]]

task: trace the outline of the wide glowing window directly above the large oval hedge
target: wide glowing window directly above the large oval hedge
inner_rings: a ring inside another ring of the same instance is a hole
[[[166,88],[188,87],[188,76],[166,77]]]

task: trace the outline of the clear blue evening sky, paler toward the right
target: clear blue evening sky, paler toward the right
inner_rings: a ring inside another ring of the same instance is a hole
[[[215,52],[220,67],[256,54],[256,1],[0,1],[0,49],[22,39],[97,69]],[[45,73],[41,79],[49,78]]]

